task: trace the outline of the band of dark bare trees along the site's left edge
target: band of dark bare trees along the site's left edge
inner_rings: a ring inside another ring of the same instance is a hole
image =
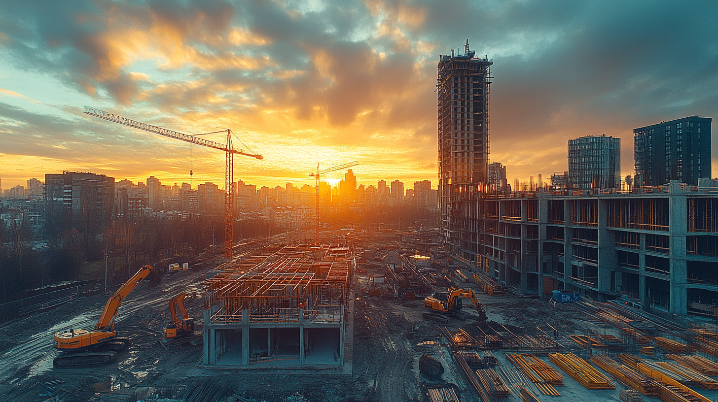
[[[100,279],[120,284],[140,266],[177,257],[192,262],[215,243],[223,246],[224,217],[118,218],[99,235],[72,228],[49,238],[33,235],[27,220],[0,220],[0,303],[60,281]],[[271,234],[261,220],[235,223],[235,240]],[[276,229],[274,230],[276,233]]]

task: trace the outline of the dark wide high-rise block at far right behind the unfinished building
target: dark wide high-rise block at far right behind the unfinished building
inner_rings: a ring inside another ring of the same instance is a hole
[[[696,185],[711,177],[711,122],[689,116],[633,129],[635,187],[670,180]]]

